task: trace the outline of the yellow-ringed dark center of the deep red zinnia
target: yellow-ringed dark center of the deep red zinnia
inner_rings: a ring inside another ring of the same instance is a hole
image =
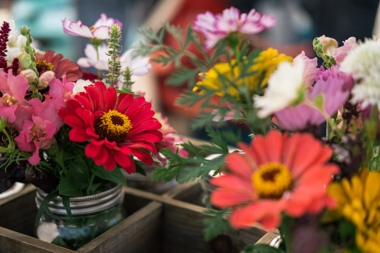
[[[109,110],[96,119],[95,132],[100,139],[107,138],[110,142],[124,142],[132,124],[127,116],[117,110]]]

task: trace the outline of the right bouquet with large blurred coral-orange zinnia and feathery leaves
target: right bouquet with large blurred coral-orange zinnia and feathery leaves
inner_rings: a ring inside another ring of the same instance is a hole
[[[231,228],[279,232],[280,247],[242,252],[378,252],[380,42],[315,38],[317,67],[304,52],[293,59],[254,48],[250,35],[274,25],[272,15],[231,7],[198,14],[186,31],[168,23],[158,34],[141,31],[151,43],[138,52],[176,66],[168,82],[190,88],[177,102],[202,101],[193,126],[211,140],[181,144],[190,157],[166,150],[171,160],[153,177],[184,182],[211,172],[206,239]],[[166,34],[179,46],[164,44]]]

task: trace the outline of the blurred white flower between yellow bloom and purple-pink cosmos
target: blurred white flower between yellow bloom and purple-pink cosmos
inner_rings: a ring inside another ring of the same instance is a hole
[[[263,96],[255,95],[254,101],[259,108],[258,116],[265,118],[294,103],[305,90],[304,85],[305,62],[291,64],[282,62],[277,70],[268,79],[268,88]]]

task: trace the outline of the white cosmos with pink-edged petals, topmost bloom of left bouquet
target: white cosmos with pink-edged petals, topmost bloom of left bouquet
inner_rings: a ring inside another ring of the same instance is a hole
[[[82,21],[71,21],[68,19],[62,20],[63,31],[68,35],[81,36],[91,39],[105,40],[109,39],[108,30],[113,24],[117,23],[122,29],[122,23],[113,18],[108,18],[106,14],[100,14],[100,18],[91,27],[82,24]]]

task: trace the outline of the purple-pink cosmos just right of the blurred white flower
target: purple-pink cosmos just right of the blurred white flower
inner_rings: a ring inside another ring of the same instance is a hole
[[[315,80],[313,90],[306,97],[314,100],[316,96],[322,95],[325,111],[331,116],[347,101],[354,79],[334,65],[329,70],[321,67]],[[296,107],[288,106],[274,115],[280,128],[291,131],[306,129],[308,125],[318,126],[326,120],[319,110],[305,103]]]

